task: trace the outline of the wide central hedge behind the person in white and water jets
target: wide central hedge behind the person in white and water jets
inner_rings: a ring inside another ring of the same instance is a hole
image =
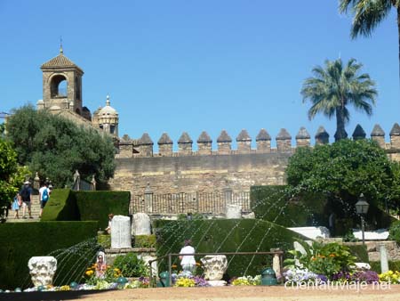
[[[156,220],[157,256],[179,253],[183,241],[191,239],[196,253],[216,252],[255,252],[269,251],[270,248],[293,248],[295,239],[304,239],[300,234],[286,228],[258,219],[229,220]],[[196,256],[196,262],[200,261]],[[226,278],[256,275],[265,265],[270,265],[270,256],[236,255],[228,256]],[[172,264],[179,265],[174,256]],[[166,260],[161,263],[160,272],[166,269]]]

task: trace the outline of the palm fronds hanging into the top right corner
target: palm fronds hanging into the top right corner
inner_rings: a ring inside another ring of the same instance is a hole
[[[372,30],[378,26],[380,21],[388,17],[392,8],[397,12],[398,32],[398,59],[400,66],[400,0],[340,0],[339,10],[341,13],[354,12],[351,37],[359,35],[369,37]],[[400,68],[399,68],[400,72]]]

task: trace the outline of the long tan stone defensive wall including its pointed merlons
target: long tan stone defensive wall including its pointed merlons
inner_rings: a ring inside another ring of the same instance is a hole
[[[364,139],[364,129],[357,125],[353,139]],[[197,150],[187,133],[178,141],[178,151],[172,150],[168,134],[158,140],[158,153],[148,134],[139,140],[124,136],[116,155],[116,173],[109,181],[112,190],[129,190],[132,199],[144,196],[147,187],[154,194],[204,193],[224,191],[233,193],[250,191],[252,185],[284,184],[284,170],[296,148],[311,146],[311,136],[301,127],[292,145],[292,135],[281,129],[276,136],[276,148],[271,148],[271,136],[261,129],[256,136],[257,148],[251,148],[252,138],[246,130],[236,137],[237,149],[232,150],[232,139],[222,131],[217,139],[217,150],[212,139],[203,132],[197,139]],[[385,142],[385,132],[379,125],[373,127],[372,140],[388,152],[390,159],[400,160],[400,126],[395,124]],[[321,126],[315,135],[316,144],[329,142],[329,134]]]

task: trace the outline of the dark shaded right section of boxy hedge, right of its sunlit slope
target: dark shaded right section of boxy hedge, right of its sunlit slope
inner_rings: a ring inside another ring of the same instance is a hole
[[[129,191],[76,191],[76,204],[83,221],[99,221],[99,227],[108,226],[108,214],[128,216]]]

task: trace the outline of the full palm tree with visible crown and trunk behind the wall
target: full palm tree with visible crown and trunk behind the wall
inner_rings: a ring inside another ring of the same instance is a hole
[[[314,77],[308,77],[301,89],[303,102],[312,102],[308,110],[309,119],[317,113],[323,113],[328,118],[336,116],[335,141],[348,136],[345,130],[350,118],[348,104],[368,116],[372,115],[372,105],[375,104],[378,92],[368,74],[358,75],[362,67],[355,59],[350,59],[346,66],[343,66],[340,59],[327,60],[324,68],[316,66],[312,70]]]

